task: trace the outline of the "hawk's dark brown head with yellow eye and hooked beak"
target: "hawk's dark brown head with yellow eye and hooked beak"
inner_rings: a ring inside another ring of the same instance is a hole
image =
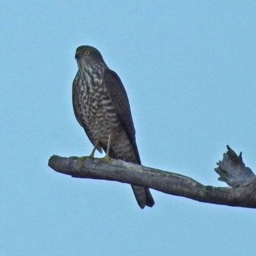
[[[100,52],[89,45],[77,47],[75,58],[79,68],[92,67],[99,63],[104,64],[104,60]]]

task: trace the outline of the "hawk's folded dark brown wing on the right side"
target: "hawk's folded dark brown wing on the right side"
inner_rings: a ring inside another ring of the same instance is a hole
[[[107,90],[109,98],[111,99],[116,108],[116,111],[120,118],[120,123],[132,143],[132,147],[134,149],[134,153],[136,154],[138,164],[141,164],[140,155],[136,145],[135,129],[132,122],[131,109],[124,85],[122,84],[122,81],[120,77],[118,77],[116,72],[110,69],[105,70],[103,83]]]

